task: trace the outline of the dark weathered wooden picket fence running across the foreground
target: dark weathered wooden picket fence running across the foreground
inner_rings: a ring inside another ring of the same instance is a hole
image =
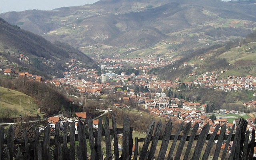
[[[249,140],[250,132],[249,130],[246,131],[247,121],[242,118],[237,124],[236,133],[233,134],[235,128],[233,126],[228,135],[225,134],[226,125],[222,125],[220,134],[217,134],[220,124],[216,126],[212,134],[208,134],[210,126],[206,124],[200,134],[196,135],[199,124],[196,123],[191,131],[191,123],[187,123],[184,126],[184,122],[178,128],[176,134],[172,135],[172,122],[169,120],[166,124],[164,135],[160,136],[162,123],[159,121],[156,124],[153,136],[155,122],[152,122],[148,128],[146,138],[135,138],[134,152],[132,151],[132,128],[128,118],[125,118],[123,128],[116,128],[116,120],[112,116],[112,129],[109,127],[108,118],[105,119],[105,128],[102,128],[102,120],[100,119],[97,132],[93,132],[92,121],[88,122],[88,128],[79,121],[77,126],[78,134],[75,134],[74,122],[72,122],[70,130],[67,129],[67,123],[64,123],[62,136],[60,136],[59,125],[59,123],[56,124],[54,134],[51,134],[50,126],[47,126],[44,130],[43,140],[40,140],[38,129],[36,129],[35,135],[31,138],[28,138],[27,131],[25,131],[24,138],[17,139],[14,138],[14,127],[12,125],[9,127],[7,134],[4,134],[4,128],[1,126],[1,160],[103,160],[103,157],[106,160],[163,160],[166,158],[168,160],[179,160],[181,156],[184,160],[198,160],[199,158],[207,160],[214,140],[218,140],[218,142],[213,158],[211,158],[212,160],[217,160],[220,156],[220,148],[223,142],[229,144],[230,141],[233,141],[228,160],[253,159],[254,154],[255,130],[252,130],[251,140]],[[182,130],[183,134],[180,135]],[[70,134],[68,131],[70,131]],[[120,133],[122,133],[122,153],[118,148],[118,134]],[[188,136],[189,133],[191,133],[190,136]],[[103,147],[102,136],[105,137],[105,146]],[[111,137],[114,139],[112,146]],[[86,139],[89,139],[88,143],[86,143]],[[162,144],[159,153],[155,154],[159,140],[162,141]],[[170,140],[172,140],[172,145],[168,148]],[[205,144],[206,140],[208,142],[207,145]],[[79,145],[76,144],[77,141]],[[176,145],[177,141],[179,141],[178,145]],[[184,144],[186,141],[188,143],[185,151]],[[194,152],[190,153],[192,152],[191,148],[194,141],[196,141],[196,147]],[[140,155],[138,155],[139,142],[144,142]],[[202,152],[204,145],[206,147]],[[105,148],[105,150],[102,150],[102,148]],[[114,148],[114,152],[112,148]],[[177,151],[174,154],[175,148]],[[166,153],[167,149],[169,149],[168,154]],[[182,152],[183,150],[184,152]],[[222,152],[222,160],[226,159],[227,150],[228,145],[225,146]],[[158,157],[155,155],[158,155]],[[189,155],[192,155],[192,158]]]

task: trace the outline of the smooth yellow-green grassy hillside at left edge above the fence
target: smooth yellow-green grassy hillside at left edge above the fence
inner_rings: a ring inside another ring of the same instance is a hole
[[[39,108],[36,101],[21,92],[1,87],[1,118],[36,116]]]

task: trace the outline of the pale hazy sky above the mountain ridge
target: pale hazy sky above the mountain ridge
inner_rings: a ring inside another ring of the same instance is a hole
[[[52,10],[54,8],[82,6],[98,0],[0,0],[1,13],[24,10]]]

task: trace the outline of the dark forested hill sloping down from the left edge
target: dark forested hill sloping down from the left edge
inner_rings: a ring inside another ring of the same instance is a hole
[[[26,56],[26,61],[19,59],[20,54]],[[41,36],[9,24],[2,18],[1,55],[20,68],[27,68],[26,72],[41,76],[61,76],[63,65],[70,59],[77,59],[84,66],[96,65],[94,60],[70,45],[61,42],[52,44]]]

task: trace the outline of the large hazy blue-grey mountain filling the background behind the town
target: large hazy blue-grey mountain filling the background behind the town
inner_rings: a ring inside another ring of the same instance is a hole
[[[202,37],[214,41],[211,45],[255,30],[256,1],[100,0],[52,11],[8,12],[1,17],[48,40],[76,47],[146,48],[160,40],[186,42]],[[194,43],[189,49],[200,45]]]

